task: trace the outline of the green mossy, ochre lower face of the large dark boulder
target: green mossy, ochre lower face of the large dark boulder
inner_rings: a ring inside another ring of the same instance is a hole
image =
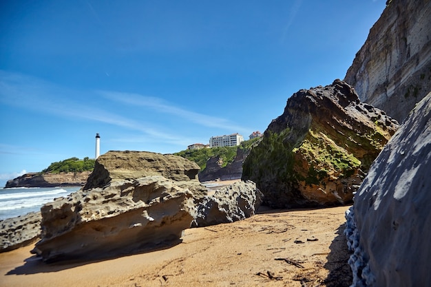
[[[255,182],[304,181],[324,186],[330,173],[348,178],[361,166],[360,160],[324,134],[311,130],[302,133],[289,129],[280,134],[268,132],[246,158],[243,177]]]

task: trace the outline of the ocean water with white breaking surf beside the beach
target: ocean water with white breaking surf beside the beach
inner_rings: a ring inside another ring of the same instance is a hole
[[[28,187],[0,189],[0,220],[16,217],[31,211],[40,211],[41,206],[54,198],[65,197],[80,187]]]

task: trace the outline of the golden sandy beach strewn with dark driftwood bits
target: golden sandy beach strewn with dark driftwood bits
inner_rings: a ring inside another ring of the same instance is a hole
[[[27,246],[0,253],[0,286],[349,286],[348,207],[260,210],[187,229],[170,248],[98,262],[44,264]]]

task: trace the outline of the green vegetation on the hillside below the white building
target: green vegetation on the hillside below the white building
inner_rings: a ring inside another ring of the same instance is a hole
[[[208,149],[186,149],[174,153],[176,156],[187,158],[193,162],[196,162],[200,171],[203,171],[207,167],[207,161],[209,158],[221,158],[223,161],[222,167],[226,167],[227,164],[233,162],[236,156],[237,149],[251,149],[253,145],[257,144],[260,138],[253,138],[253,140],[244,140],[238,147],[212,147]]]

